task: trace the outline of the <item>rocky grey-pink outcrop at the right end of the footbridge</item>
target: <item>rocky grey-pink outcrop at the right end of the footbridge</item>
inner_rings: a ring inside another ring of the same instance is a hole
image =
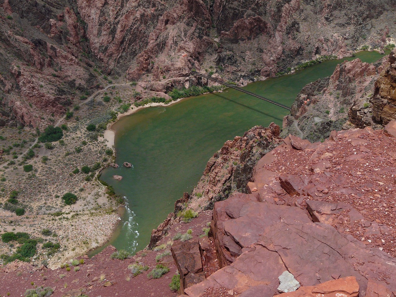
[[[329,137],[334,129],[382,128],[373,121],[379,110],[376,90],[384,76],[379,74],[389,68],[392,56],[373,64],[360,59],[346,61],[337,65],[330,77],[305,86],[294,101],[291,114],[284,118],[282,136],[293,134],[318,141]],[[383,82],[385,89],[390,85],[390,81]]]

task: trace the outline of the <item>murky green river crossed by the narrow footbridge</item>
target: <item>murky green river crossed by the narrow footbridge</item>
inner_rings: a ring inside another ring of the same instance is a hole
[[[360,58],[372,63],[373,51],[331,60],[280,78],[254,82],[245,89],[291,106],[308,83],[333,73],[337,64]],[[150,234],[173,211],[174,203],[199,181],[209,158],[225,141],[255,125],[282,125],[286,109],[235,89],[190,97],[168,107],[149,107],[121,118],[116,131],[119,168],[103,170],[101,179],[126,197],[126,211],[109,244],[131,252],[147,246]],[[122,166],[124,162],[133,168]],[[121,181],[113,175],[124,177]],[[96,249],[91,255],[98,253]]]

